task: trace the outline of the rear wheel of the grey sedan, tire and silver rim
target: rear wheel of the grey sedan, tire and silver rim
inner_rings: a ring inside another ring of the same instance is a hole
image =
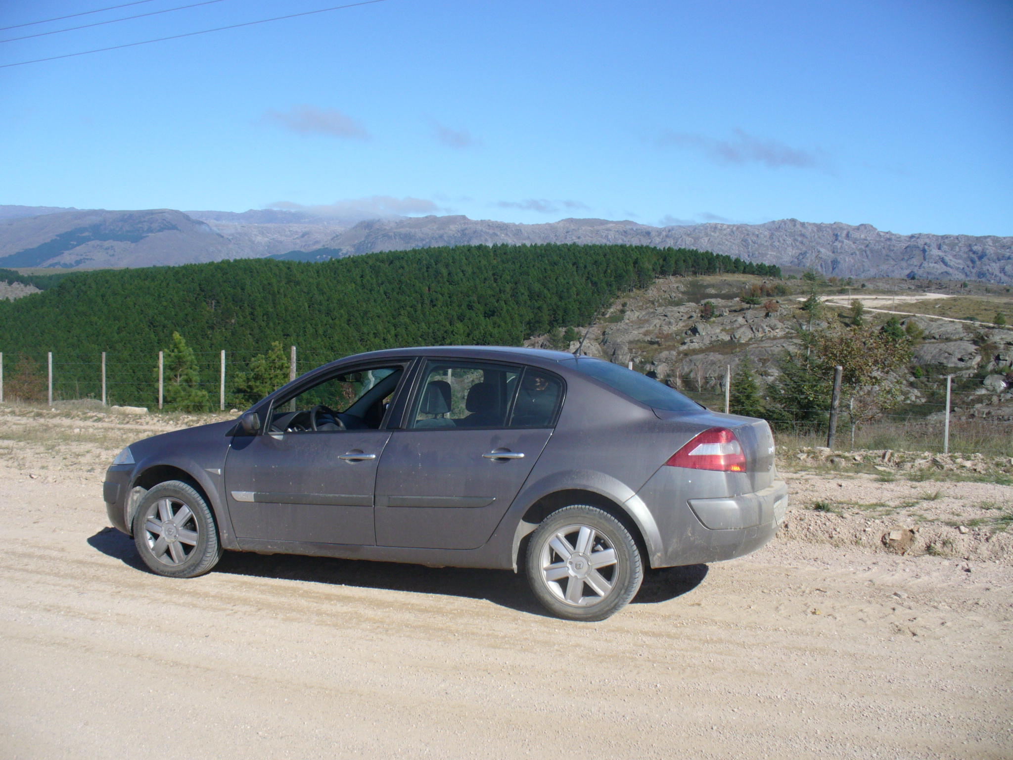
[[[528,542],[528,583],[538,601],[567,620],[604,620],[636,595],[643,562],[622,523],[596,507],[553,512]]]

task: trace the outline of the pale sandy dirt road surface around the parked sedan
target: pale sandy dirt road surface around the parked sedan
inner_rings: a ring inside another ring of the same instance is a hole
[[[1007,555],[831,535],[919,520],[910,482],[789,474],[769,546],[651,573],[580,624],[503,572],[235,553],[145,572],[107,527],[104,466],[180,422],[0,406],[3,757],[1013,756]],[[919,482],[949,500],[920,502],[940,513],[923,530],[965,538],[946,512],[1013,499],[975,486]],[[873,502],[893,512],[854,506]]]

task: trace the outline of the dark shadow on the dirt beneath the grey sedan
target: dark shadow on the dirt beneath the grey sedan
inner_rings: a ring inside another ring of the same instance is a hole
[[[134,569],[151,573],[137,553],[134,540],[114,528],[105,528],[88,538],[88,544]],[[484,599],[519,612],[548,616],[538,603],[523,574],[471,567],[426,567],[400,562],[372,562],[298,554],[256,554],[226,551],[213,573],[253,578],[307,581],[363,589],[445,594]],[[707,577],[706,564],[647,571],[633,604],[658,604],[682,596]]]

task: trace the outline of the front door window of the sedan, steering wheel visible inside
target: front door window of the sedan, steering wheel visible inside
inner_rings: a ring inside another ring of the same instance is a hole
[[[271,433],[375,430],[383,423],[404,369],[374,367],[332,375],[271,409]]]

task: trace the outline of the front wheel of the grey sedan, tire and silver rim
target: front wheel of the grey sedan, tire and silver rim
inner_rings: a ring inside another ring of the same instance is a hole
[[[159,483],[144,495],[134,515],[134,544],[144,563],[167,578],[203,576],[223,552],[211,509],[181,480]]]

